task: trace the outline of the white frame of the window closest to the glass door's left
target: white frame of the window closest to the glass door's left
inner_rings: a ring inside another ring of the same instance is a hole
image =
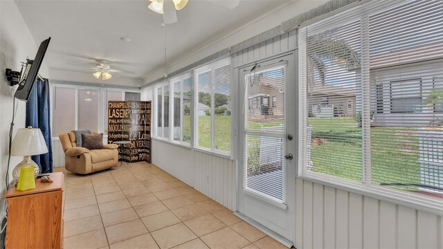
[[[213,79],[213,71],[215,71],[218,68],[223,68],[224,66],[230,66],[230,96],[232,98],[233,96],[233,68],[232,68],[232,62],[231,62],[231,58],[227,57],[227,58],[221,58],[221,59],[217,59],[217,61],[211,63],[211,64],[207,64],[205,66],[201,66],[199,68],[196,68],[195,71],[193,72],[193,84],[194,84],[194,144],[193,144],[193,148],[198,150],[198,151],[203,151],[209,154],[213,154],[215,156],[222,156],[225,158],[232,158],[233,155],[233,116],[232,116],[232,110],[231,110],[231,120],[229,123],[230,126],[230,150],[229,151],[224,151],[221,149],[216,149],[215,148],[215,134],[214,134],[214,123],[215,123],[215,87],[214,87],[214,82],[211,82],[210,84],[210,94],[211,94],[211,106],[210,106],[210,114],[211,114],[211,127],[210,127],[210,148],[206,148],[206,147],[200,147],[199,146],[199,86],[198,86],[198,82],[199,82],[199,75],[204,74],[204,73],[208,73],[210,72],[211,75],[211,79]]]

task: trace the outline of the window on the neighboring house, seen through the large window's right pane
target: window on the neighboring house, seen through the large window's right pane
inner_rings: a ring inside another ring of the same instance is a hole
[[[390,112],[414,113],[422,102],[422,79],[390,82]]]

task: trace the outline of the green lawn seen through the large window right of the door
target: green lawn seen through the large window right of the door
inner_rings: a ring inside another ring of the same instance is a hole
[[[361,128],[356,122],[352,118],[309,118],[309,123],[313,170],[362,181]],[[372,183],[419,183],[415,130],[412,127],[371,128]]]

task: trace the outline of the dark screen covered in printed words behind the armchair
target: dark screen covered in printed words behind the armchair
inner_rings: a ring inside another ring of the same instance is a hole
[[[151,102],[109,101],[108,142],[129,141],[120,145],[120,160],[151,163]]]

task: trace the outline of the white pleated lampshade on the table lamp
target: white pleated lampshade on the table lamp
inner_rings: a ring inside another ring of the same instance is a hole
[[[33,156],[48,153],[42,131],[38,128],[21,128],[12,140],[11,156]]]

